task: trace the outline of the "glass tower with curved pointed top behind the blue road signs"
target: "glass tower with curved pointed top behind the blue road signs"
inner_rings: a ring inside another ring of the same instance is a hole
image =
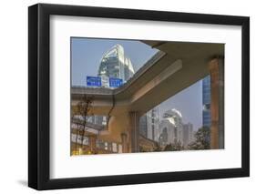
[[[99,77],[104,77],[104,79],[115,77],[122,79],[124,82],[127,82],[134,75],[134,68],[130,59],[125,56],[123,46],[113,46],[102,56],[97,74]]]

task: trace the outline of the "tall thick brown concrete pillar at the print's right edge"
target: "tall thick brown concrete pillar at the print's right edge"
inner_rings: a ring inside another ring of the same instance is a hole
[[[210,60],[210,148],[224,148],[223,58]]]

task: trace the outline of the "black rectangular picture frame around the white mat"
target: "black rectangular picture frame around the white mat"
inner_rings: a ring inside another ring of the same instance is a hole
[[[87,178],[50,179],[50,15],[74,15],[133,20],[241,26],[242,124],[241,168],[205,169]],[[180,180],[250,176],[250,18],[78,5],[37,4],[28,7],[28,186],[68,189]]]

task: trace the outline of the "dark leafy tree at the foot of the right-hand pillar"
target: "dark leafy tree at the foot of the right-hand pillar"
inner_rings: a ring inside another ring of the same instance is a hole
[[[189,144],[189,149],[210,149],[210,128],[200,128],[195,138],[196,140]]]

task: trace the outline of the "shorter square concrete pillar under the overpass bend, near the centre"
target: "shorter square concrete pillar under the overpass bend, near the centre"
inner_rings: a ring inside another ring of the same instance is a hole
[[[138,112],[129,112],[130,125],[128,127],[129,131],[129,152],[138,152],[138,123],[139,123],[139,115]]]

